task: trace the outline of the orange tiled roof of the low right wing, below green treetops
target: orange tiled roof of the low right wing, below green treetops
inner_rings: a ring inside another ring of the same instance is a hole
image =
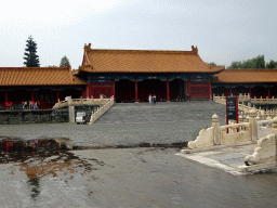
[[[277,82],[277,69],[225,69],[214,77],[215,83]]]

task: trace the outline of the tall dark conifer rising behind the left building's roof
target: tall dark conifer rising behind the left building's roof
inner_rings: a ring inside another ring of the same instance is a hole
[[[39,56],[37,55],[37,43],[32,40],[31,36],[26,40],[27,49],[25,49],[25,57],[26,60],[23,64],[25,64],[26,67],[39,67]]]

